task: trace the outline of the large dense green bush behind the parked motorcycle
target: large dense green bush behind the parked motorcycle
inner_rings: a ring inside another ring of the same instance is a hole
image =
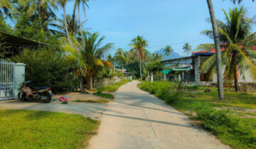
[[[23,50],[12,57],[14,62],[26,64],[26,80],[32,87],[51,87],[53,93],[73,90],[75,86],[75,62],[55,50]]]

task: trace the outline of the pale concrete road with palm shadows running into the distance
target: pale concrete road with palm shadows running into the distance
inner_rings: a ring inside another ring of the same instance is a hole
[[[115,92],[89,148],[228,148],[187,116],[130,82]]]

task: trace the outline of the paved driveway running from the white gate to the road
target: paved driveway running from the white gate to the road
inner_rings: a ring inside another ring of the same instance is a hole
[[[68,114],[81,114],[85,117],[99,119],[108,104],[69,102],[61,104],[60,101],[51,101],[48,104],[23,101],[0,101],[0,109],[29,109],[37,111],[55,111]]]

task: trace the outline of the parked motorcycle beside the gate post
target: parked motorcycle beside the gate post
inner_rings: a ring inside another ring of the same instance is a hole
[[[50,102],[53,96],[50,87],[30,87],[31,81],[25,82],[18,93],[18,99],[23,101],[43,101]]]

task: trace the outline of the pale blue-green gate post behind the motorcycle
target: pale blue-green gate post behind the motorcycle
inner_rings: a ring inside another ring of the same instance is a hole
[[[25,66],[23,63],[16,63],[14,70],[14,97],[18,98],[19,88],[21,84],[25,82]]]

